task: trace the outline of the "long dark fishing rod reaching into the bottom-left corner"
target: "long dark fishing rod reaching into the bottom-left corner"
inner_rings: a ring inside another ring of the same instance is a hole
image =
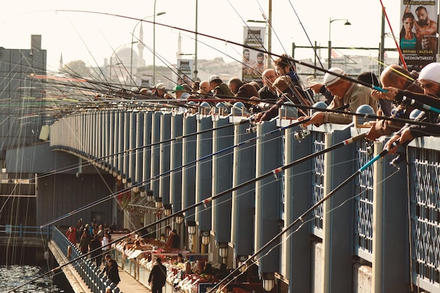
[[[192,204],[192,205],[190,205],[189,207],[183,208],[183,209],[181,209],[180,211],[176,211],[176,212],[174,212],[174,214],[170,214],[169,216],[164,216],[164,217],[162,217],[161,219],[158,219],[157,221],[148,224],[147,226],[144,226],[144,227],[138,228],[138,229],[136,229],[136,230],[133,230],[133,231],[131,231],[130,233],[124,235],[124,237],[129,237],[129,235],[132,235],[132,234],[134,234],[134,233],[138,233],[139,231],[141,231],[141,230],[144,229],[144,228],[147,228],[147,229],[148,229],[148,228],[153,227],[153,226],[156,226],[157,224],[160,224],[160,223],[162,223],[162,222],[164,222],[164,221],[167,221],[167,220],[169,220],[169,219],[173,219],[175,216],[178,216],[178,215],[180,215],[180,214],[182,214],[182,213],[185,213],[186,211],[190,211],[191,209],[195,209],[196,207],[200,207],[201,205],[207,205],[207,203],[212,202],[212,200],[216,200],[216,199],[218,199],[218,198],[220,198],[220,197],[223,197],[224,195],[228,195],[228,194],[232,193],[232,192],[235,191],[235,190],[238,190],[238,189],[243,188],[243,187],[245,187],[245,186],[247,186],[247,185],[250,185],[250,184],[252,184],[252,183],[255,183],[255,182],[257,182],[257,181],[260,181],[260,180],[262,180],[262,179],[264,179],[264,178],[267,178],[267,177],[270,177],[270,176],[276,176],[278,173],[280,173],[280,172],[282,172],[282,171],[284,171],[284,170],[286,170],[286,169],[289,169],[289,168],[291,168],[291,167],[294,167],[294,166],[297,165],[297,164],[301,164],[302,162],[306,162],[306,160],[308,160],[308,159],[311,159],[311,158],[313,158],[313,157],[318,157],[319,155],[323,155],[323,154],[325,154],[325,152],[330,152],[330,151],[335,150],[335,149],[337,149],[337,148],[340,148],[340,147],[342,147],[342,146],[344,146],[344,145],[349,145],[349,144],[354,143],[354,142],[356,142],[356,141],[360,141],[360,140],[362,140],[364,137],[365,137],[365,134],[359,134],[358,136],[354,136],[354,137],[352,137],[352,138],[348,138],[348,139],[346,139],[346,140],[344,140],[344,141],[342,141],[342,142],[340,142],[340,143],[337,143],[337,144],[335,144],[335,145],[332,145],[332,146],[330,146],[329,148],[325,148],[325,149],[320,150],[320,151],[318,151],[318,152],[314,152],[314,153],[311,154],[311,155],[307,155],[307,156],[305,156],[305,157],[302,157],[302,158],[300,158],[300,159],[295,160],[294,162],[291,162],[291,163],[286,164],[286,165],[284,165],[284,166],[281,166],[281,167],[278,167],[278,168],[276,168],[276,169],[273,169],[272,171],[268,171],[268,172],[266,172],[266,174],[262,174],[261,176],[258,176],[258,177],[256,177],[256,178],[252,178],[252,179],[250,179],[250,180],[248,180],[248,181],[245,181],[245,182],[243,182],[243,183],[240,183],[239,185],[236,185],[236,186],[234,186],[234,187],[232,187],[232,188],[229,188],[228,190],[224,190],[224,191],[222,191],[221,193],[218,193],[217,195],[213,195],[213,196],[211,196],[211,197],[206,198],[205,200],[201,200],[200,202],[197,202],[197,203],[195,203],[195,204]],[[372,163],[372,164],[373,164],[373,163]],[[42,226],[41,226],[41,227],[42,227]],[[287,228],[286,228],[285,230],[287,230]],[[277,235],[277,236],[278,236],[278,235]],[[113,245],[113,244],[119,242],[119,240],[120,240],[120,239],[118,239],[118,240],[113,240],[112,242],[109,242],[108,245],[111,246],[111,245]],[[274,240],[273,240],[273,241],[274,241]],[[272,243],[273,241],[271,241],[270,243]],[[265,246],[266,246],[266,245],[265,245]],[[63,263],[62,265],[60,265],[60,266],[58,266],[58,267],[56,267],[56,268],[53,268],[51,271],[48,271],[48,272],[46,272],[46,273],[44,273],[44,274],[42,274],[42,275],[39,275],[39,276],[37,276],[36,278],[34,278],[34,279],[32,279],[32,280],[29,280],[29,281],[25,282],[24,284],[19,285],[18,287],[13,288],[9,293],[12,293],[13,291],[15,291],[15,290],[17,290],[17,289],[20,289],[21,287],[23,287],[23,286],[25,286],[25,285],[27,285],[27,284],[30,284],[30,282],[34,282],[35,280],[38,280],[39,278],[42,278],[42,277],[44,277],[45,275],[48,275],[49,273],[53,273],[54,271],[60,270],[60,269],[63,268],[64,266],[67,266],[67,265],[69,265],[69,264],[71,264],[71,263],[74,263],[74,262],[76,262],[76,261],[79,261],[79,260],[83,259],[84,257],[89,256],[89,254],[92,254],[92,253],[96,252],[97,250],[98,250],[98,249],[94,249],[94,250],[91,251],[91,252],[87,252],[86,254],[82,254],[82,256],[79,256],[79,257],[77,257],[76,259],[72,259],[72,260],[70,260],[70,261],[67,261],[66,263]],[[261,249],[260,249],[260,250],[261,250]],[[256,254],[255,254],[255,255],[256,255]],[[240,266],[240,267],[241,267],[241,266]],[[235,271],[235,270],[234,270],[234,271]],[[231,275],[231,274],[230,274],[230,275]],[[229,277],[230,275],[228,275],[228,277]],[[228,277],[226,277],[226,278],[228,278]],[[224,279],[221,280],[220,282],[224,282],[224,280],[226,280],[226,278],[224,278]],[[212,291],[209,291],[209,292],[212,292]]]

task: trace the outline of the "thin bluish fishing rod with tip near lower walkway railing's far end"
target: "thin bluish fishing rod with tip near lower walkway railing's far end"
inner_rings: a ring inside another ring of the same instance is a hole
[[[309,119],[310,119],[310,118],[309,118]],[[54,220],[52,220],[52,221],[49,221],[48,223],[45,223],[44,225],[41,225],[40,228],[44,228],[44,227],[46,227],[46,226],[48,226],[48,225],[51,225],[51,224],[53,224],[53,223],[56,223],[57,221],[60,221],[61,219],[65,219],[67,216],[72,216],[73,214],[77,214],[79,211],[82,211],[82,210],[84,210],[84,209],[88,209],[89,207],[93,207],[93,206],[96,205],[96,204],[101,204],[102,202],[105,202],[105,201],[107,201],[107,200],[112,199],[112,197],[115,197],[115,196],[117,196],[117,195],[119,195],[119,194],[123,194],[123,193],[126,193],[126,192],[128,192],[128,191],[131,191],[131,190],[132,190],[133,188],[135,188],[135,187],[141,187],[141,185],[143,185],[143,184],[145,184],[145,183],[150,183],[151,181],[155,181],[155,180],[157,180],[158,178],[160,178],[160,177],[162,177],[162,176],[165,176],[165,175],[168,175],[168,174],[170,174],[170,173],[172,173],[172,172],[174,172],[174,171],[179,171],[180,169],[183,169],[183,168],[189,167],[189,166],[191,166],[191,165],[193,165],[193,164],[196,164],[196,163],[198,163],[198,162],[201,162],[201,161],[203,161],[203,160],[205,160],[205,159],[207,159],[207,158],[209,158],[209,157],[213,157],[214,155],[219,155],[219,154],[221,154],[222,152],[226,152],[226,151],[228,151],[228,150],[233,150],[234,148],[240,148],[242,145],[245,145],[245,144],[247,144],[247,143],[251,143],[251,142],[253,142],[253,141],[257,141],[257,139],[259,139],[259,138],[264,138],[264,137],[266,137],[266,136],[270,136],[271,134],[275,134],[276,132],[281,132],[281,131],[283,131],[283,130],[285,130],[285,129],[289,129],[289,128],[292,128],[292,127],[294,127],[294,126],[297,126],[297,125],[303,124],[304,122],[309,121],[309,119],[304,119],[304,120],[302,120],[302,121],[300,121],[300,122],[292,123],[292,124],[289,124],[289,125],[287,125],[287,126],[280,127],[280,128],[278,128],[278,129],[273,129],[272,131],[268,131],[268,132],[266,132],[265,134],[261,134],[261,135],[259,135],[259,136],[255,136],[255,137],[253,137],[253,138],[249,138],[249,139],[247,139],[247,140],[245,140],[245,141],[242,141],[242,142],[237,143],[237,144],[235,144],[235,145],[231,145],[231,146],[229,146],[229,147],[227,147],[227,148],[224,148],[224,149],[218,150],[218,151],[216,151],[216,152],[212,152],[212,153],[209,154],[209,155],[205,155],[205,156],[203,156],[203,157],[200,157],[200,158],[198,158],[198,159],[195,159],[195,160],[193,160],[193,161],[191,161],[191,162],[188,162],[188,163],[186,163],[186,164],[183,164],[183,165],[181,165],[181,166],[179,166],[179,167],[176,167],[176,168],[174,168],[174,169],[170,169],[170,170],[168,170],[168,171],[164,171],[162,174],[157,174],[157,175],[155,175],[155,176],[151,176],[150,178],[148,178],[148,179],[145,180],[145,181],[141,181],[141,182],[139,182],[139,183],[135,183],[135,184],[131,185],[131,186],[128,187],[128,188],[124,188],[124,189],[122,189],[122,190],[119,190],[117,193],[112,193],[112,194],[110,194],[110,195],[108,195],[108,196],[106,196],[106,197],[101,198],[100,200],[96,200],[95,202],[91,202],[91,203],[89,203],[89,204],[86,204],[84,207],[80,207],[79,209],[75,209],[75,210],[73,210],[73,211],[70,211],[68,214],[65,214],[64,216],[60,216],[60,217],[58,217],[57,219],[54,219]],[[251,131],[251,132],[252,132],[252,131]]]

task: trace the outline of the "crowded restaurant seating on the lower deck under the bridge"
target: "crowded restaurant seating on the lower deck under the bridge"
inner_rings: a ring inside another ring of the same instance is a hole
[[[191,239],[187,240],[191,243]],[[242,266],[240,271],[231,274],[233,269],[228,265],[228,261],[232,260],[228,257],[230,247],[220,248],[218,258],[214,259],[213,253],[167,248],[163,239],[138,238],[138,235],[124,237],[112,246],[119,268],[148,289],[151,289],[148,277],[157,257],[167,268],[164,292],[205,293],[226,277],[215,292],[264,293],[287,292],[288,289],[288,284],[278,274],[273,275],[271,280],[261,280],[258,263]]]

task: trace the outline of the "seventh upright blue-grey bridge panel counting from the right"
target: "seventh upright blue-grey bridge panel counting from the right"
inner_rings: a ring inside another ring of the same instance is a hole
[[[197,131],[212,129],[211,117],[198,119]],[[198,134],[197,136],[197,159],[212,154],[212,131]],[[195,202],[201,202],[212,194],[212,157],[207,157],[195,164]],[[198,221],[199,229],[211,230],[211,202],[195,208],[195,221]]]

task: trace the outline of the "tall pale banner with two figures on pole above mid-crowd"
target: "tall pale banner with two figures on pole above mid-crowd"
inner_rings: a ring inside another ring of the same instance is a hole
[[[244,27],[243,44],[264,49],[265,41],[266,27]],[[262,86],[261,73],[266,69],[266,56],[252,48],[243,48],[242,81],[257,82]]]

